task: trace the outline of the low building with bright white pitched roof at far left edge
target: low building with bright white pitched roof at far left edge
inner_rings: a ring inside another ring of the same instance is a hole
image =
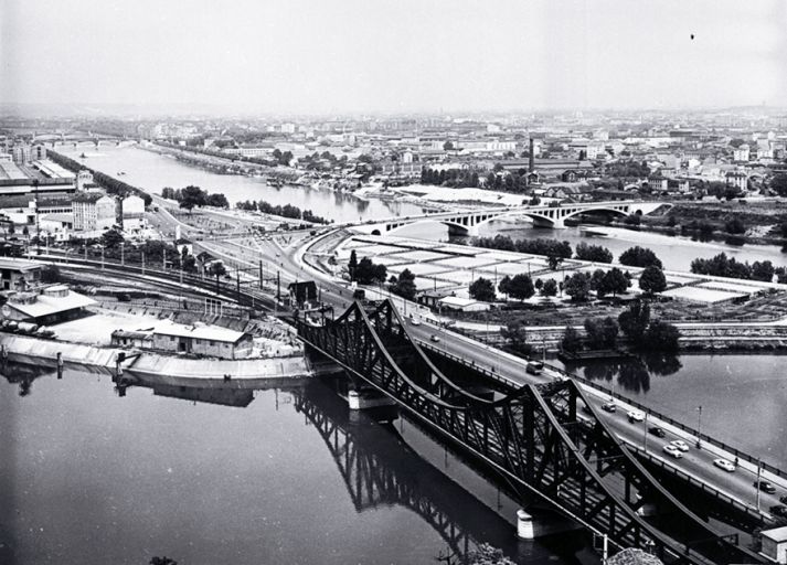
[[[53,285],[42,290],[20,291],[9,296],[0,312],[7,320],[54,326],[84,316],[85,308],[96,301],[65,285]]]

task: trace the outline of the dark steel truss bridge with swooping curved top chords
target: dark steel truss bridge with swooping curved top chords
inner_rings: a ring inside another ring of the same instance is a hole
[[[307,345],[358,385],[390,396],[523,495],[535,494],[615,546],[652,550],[670,563],[764,563],[664,489],[573,380],[508,394],[478,392],[474,386],[489,379],[439,371],[387,300],[369,311],[354,302],[321,324],[308,318],[295,323]]]

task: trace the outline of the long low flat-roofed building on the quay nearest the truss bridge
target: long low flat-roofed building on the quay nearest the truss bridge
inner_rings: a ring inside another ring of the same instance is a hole
[[[170,322],[152,330],[116,330],[111,333],[111,343],[170,353],[245,359],[252,353],[254,339],[251,333],[220,326],[183,326]]]

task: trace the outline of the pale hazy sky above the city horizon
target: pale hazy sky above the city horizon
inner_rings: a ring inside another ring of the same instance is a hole
[[[0,62],[4,103],[779,106],[787,2],[0,0]]]

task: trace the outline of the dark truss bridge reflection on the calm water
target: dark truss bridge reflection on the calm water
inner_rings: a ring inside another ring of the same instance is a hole
[[[437,532],[453,555],[465,563],[479,542],[511,555],[538,559],[571,556],[581,544],[576,536],[552,542],[518,544],[512,525],[440,470],[422,458],[397,433],[391,411],[350,417],[347,403],[312,383],[294,393],[295,408],[315,426],[337,463],[358,512],[398,504],[421,516]],[[383,422],[375,422],[383,420]]]

